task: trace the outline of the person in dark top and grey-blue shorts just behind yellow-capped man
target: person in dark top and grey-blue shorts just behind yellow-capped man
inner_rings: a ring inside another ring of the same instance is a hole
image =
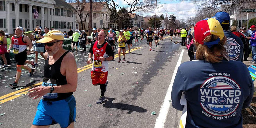
[[[33,41],[35,41],[35,43],[40,40],[43,36],[44,33],[42,33],[42,29],[41,28],[37,28],[37,34],[33,37]],[[35,67],[38,66],[37,62],[38,62],[38,52],[40,52],[40,55],[44,58],[44,60],[46,60],[46,58],[44,57],[44,44],[41,43],[36,43],[34,45],[34,51],[36,52],[36,56],[35,56]]]

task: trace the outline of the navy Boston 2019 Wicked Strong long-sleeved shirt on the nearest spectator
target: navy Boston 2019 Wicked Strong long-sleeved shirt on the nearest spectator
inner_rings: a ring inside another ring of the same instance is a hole
[[[242,128],[242,108],[253,97],[254,86],[246,65],[239,61],[203,60],[182,63],[172,87],[172,106],[182,111],[187,100],[188,128]]]

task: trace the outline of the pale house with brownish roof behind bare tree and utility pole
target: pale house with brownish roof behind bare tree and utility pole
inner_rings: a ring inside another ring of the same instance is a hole
[[[85,16],[90,11],[90,3],[84,3],[84,8],[80,7],[81,4],[80,5],[78,5],[77,3],[69,3],[69,4],[71,4],[76,9],[84,9],[83,10],[83,25],[84,25]],[[109,28],[108,22],[110,21],[109,15],[111,12],[108,10],[108,8],[103,6],[103,4],[100,2],[92,3],[92,28],[103,28],[103,29]],[[81,19],[79,17],[79,14],[77,12],[75,13],[76,13],[76,21],[77,23],[79,23],[79,26],[80,26]],[[86,18],[86,22],[85,22],[86,29],[89,29],[89,18],[90,18],[90,13]],[[112,24],[111,24],[111,27],[112,27]]]

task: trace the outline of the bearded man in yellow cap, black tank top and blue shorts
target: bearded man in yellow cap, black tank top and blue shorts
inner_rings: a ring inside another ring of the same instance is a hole
[[[63,49],[64,35],[52,30],[37,43],[44,43],[47,60],[44,65],[42,86],[28,90],[30,98],[43,97],[38,106],[31,128],[49,128],[60,124],[73,128],[76,118],[76,100],[72,95],[77,87],[77,66],[74,55]]]

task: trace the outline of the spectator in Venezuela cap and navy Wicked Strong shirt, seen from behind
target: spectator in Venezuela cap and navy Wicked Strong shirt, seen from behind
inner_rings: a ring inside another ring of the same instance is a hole
[[[241,61],[229,61],[220,23],[201,20],[195,25],[196,59],[182,63],[172,87],[172,106],[187,113],[185,128],[242,128],[242,108],[253,97],[249,70]],[[182,127],[182,126],[181,126]]]

